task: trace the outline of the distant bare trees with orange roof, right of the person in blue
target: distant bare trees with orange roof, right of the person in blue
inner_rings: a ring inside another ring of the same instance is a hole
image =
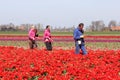
[[[87,31],[120,31],[120,23],[115,20],[111,20],[108,25],[104,24],[104,21],[92,21],[88,26]]]

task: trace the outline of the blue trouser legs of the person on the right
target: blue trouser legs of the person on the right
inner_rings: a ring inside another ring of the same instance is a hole
[[[85,45],[84,43],[82,43],[81,45],[78,44],[78,42],[76,41],[75,42],[75,53],[76,54],[79,54],[80,53],[80,49],[82,50],[82,53],[83,55],[86,55],[87,54],[87,51],[86,51],[86,48],[85,48]]]

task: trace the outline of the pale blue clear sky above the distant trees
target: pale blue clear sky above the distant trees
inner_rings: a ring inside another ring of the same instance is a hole
[[[0,0],[0,24],[71,27],[96,20],[120,22],[120,0]]]

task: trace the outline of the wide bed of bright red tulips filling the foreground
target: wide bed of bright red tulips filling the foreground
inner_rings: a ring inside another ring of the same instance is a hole
[[[0,47],[0,80],[120,80],[120,50]]]

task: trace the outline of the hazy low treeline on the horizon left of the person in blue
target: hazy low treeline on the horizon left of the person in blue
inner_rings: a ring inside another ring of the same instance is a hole
[[[29,31],[31,26],[35,26],[38,31],[44,31],[45,26],[42,24],[21,24],[14,25],[13,23],[0,25],[0,31]],[[51,31],[53,32],[71,32],[75,29],[75,26],[66,28],[66,27],[53,27],[51,26]]]

